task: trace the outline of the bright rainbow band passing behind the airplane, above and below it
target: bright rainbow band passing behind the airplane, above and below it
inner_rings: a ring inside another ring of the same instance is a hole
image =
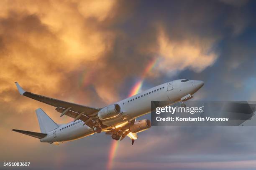
[[[144,79],[146,78],[148,72],[150,72],[154,68],[154,66],[156,65],[157,62],[158,62],[158,59],[155,58],[151,62],[148,63],[148,65],[145,68],[145,70],[143,71],[143,74],[141,75],[140,79],[132,87],[131,92],[129,93],[129,97],[136,95],[138,92],[141,91],[141,87],[143,85]],[[116,155],[116,151],[118,149],[118,145],[119,145],[119,141],[116,141],[116,140],[113,140],[113,142],[111,143],[108,165],[107,165],[108,170],[111,170],[113,167],[114,158]]]

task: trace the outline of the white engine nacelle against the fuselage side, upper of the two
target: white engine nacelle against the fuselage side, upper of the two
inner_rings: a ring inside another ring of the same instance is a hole
[[[100,120],[104,120],[104,119],[109,119],[109,118],[115,117],[115,116],[119,115],[120,113],[121,113],[120,105],[113,104],[113,105],[109,105],[109,106],[102,108],[98,112],[98,117]]]

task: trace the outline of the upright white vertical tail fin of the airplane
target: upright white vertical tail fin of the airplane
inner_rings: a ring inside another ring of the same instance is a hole
[[[44,110],[41,108],[36,109],[36,115],[38,118],[41,133],[48,133],[59,127],[51,118],[46,115]]]

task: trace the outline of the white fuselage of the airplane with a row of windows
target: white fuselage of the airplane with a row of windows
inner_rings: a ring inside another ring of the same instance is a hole
[[[102,120],[102,123],[108,125],[108,127],[113,127],[133,120],[136,117],[151,112],[151,101],[169,101],[168,105],[170,105],[180,101],[182,97],[188,94],[193,95],[203,85],[203,82],[198,80],[188,80],[185,82],[182,82],[182,80],[167,82],[116,102],[116,104],[120,105],[122,113],[119,116]],[[77,120],[59,125],[59,128],[47,133],[47,136],[40,139],[40,141],[49,143],[63,142],[94,134],[90,127],[83,124],[82,120]],[[61,128],[64,129],[61,130]]]

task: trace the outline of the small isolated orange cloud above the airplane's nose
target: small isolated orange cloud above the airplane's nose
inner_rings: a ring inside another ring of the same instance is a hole
[[[192,40],[172,41],[163,28],[159,29],[157,54],[160,56],[159,69],[177,72],[187,68],[201,72],[212,65],[217,55],[212,51],[215,40],[193,37]]]

